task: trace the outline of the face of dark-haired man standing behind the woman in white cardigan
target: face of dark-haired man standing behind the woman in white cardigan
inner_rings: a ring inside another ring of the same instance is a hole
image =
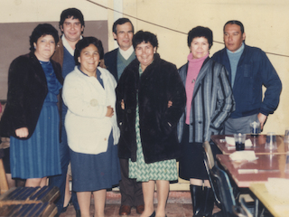
[[[79,42],[83,29],[84,26],[81,25],[79,19],[73,19],[73,17],[66,18],[61,25],[61,31],[68,42]]]

